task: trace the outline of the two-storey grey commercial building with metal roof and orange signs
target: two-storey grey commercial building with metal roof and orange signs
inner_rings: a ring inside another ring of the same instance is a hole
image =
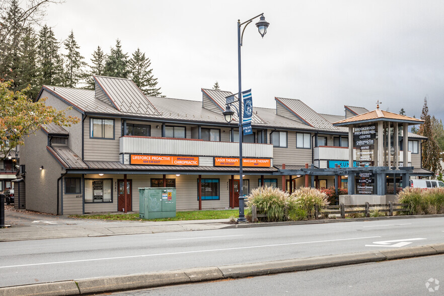
[[[42,87],[37,100],[71,107],[66,114],[81,121],[48,124],[26,138],[27,209],[138,211],[141,187],[175,187],[179,210],[239,205],[239,128],[222,115],[231,92],[202,89],[201,102],[145,97],[130,80],[94,79],[95,90]],[[253,134],[243,139],[244,194],[261,184],[286,190],[305,184],[304,176],[285,176],[283,169],[348,166],[348,130],[332,123],[368,110],[345,106],[345,116],[327,115],[300,100],[274,99],[275,109],[253,108]],[[427,173],[420,169],[422,139],[409,134],[408,160],[417,175]],[[315,186],[333,186],[333,178],[316,177]],[[346,178],[340,184],[346,187]]]

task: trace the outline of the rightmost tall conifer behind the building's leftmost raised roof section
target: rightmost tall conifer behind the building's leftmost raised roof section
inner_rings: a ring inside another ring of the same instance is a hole
[[[139,48],[133,52],[129,60],[129,78],[146,95],[159,97],[162,95],[161,88],[157,88],[157,78],[154,78],[153,69],[150,68],[151,61],[145,57],[145,53]]]

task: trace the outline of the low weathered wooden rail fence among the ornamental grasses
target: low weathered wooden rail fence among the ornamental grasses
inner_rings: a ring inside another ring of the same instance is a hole
[[[405,207],[408,206],[407,203],[395,203],[389,201],[389,203],[385,204],[369,204],[366,202],[365,204],[349,204],[345,205],[343,203],[339,205],[327,205],[321,208],[318,208],[315,205],[315,216],[313,218],[319,219],[320,214],[340,214],[341,218],[345,218],[346,214],[354,214],[354,213],[365,213],[365,217],[369,217],[370,213],[373,211],[379,212],[387,212],[389,216],[393,216],[394,212],[406,212],[408,209]],[[252,221],[257,221],[257,218],[266,217],[265,213],[258,213],[255,205],[251,206],[251,218]],[[285,208],[285,217],[287,217],[287,208]]]

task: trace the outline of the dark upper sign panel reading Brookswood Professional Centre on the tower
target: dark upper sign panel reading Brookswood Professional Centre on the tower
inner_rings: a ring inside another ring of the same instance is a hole
[[[375,163],[376,124],[362,125],[353,129],[353,144],[357,161],[366,167]]]

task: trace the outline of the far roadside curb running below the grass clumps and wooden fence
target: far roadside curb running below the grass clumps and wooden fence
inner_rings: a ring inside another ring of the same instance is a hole
[[[307,225],[307,224],[324,224],[324,223],[345,223],[345,222],[362,222],[362,221],[377,221],[377,220],[391,220],[391,219],[396,220],[396,219],[435,218],[435,217],[444,217],[444,214],[382,216],[382,217],[350,218],[350,219],[338,218],[338,219],[318,219],[318,220],[307,220],[307,221],[258,222],[258,223],[241,222],[239,224],[229,225],[221,229]]]

